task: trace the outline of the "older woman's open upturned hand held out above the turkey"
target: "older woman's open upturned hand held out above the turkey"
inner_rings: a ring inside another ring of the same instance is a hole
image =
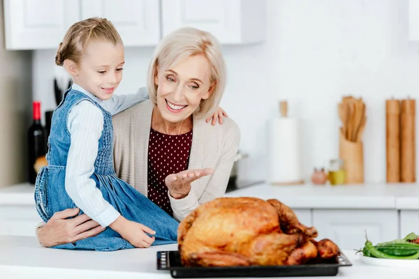
[[[177,174],[169,174],[164,179],[166,186],[169,189],[169,194],[175,199],[183,199],[189,194],[191,190],[191,183],[200,179],[203,176],[212,174],[214,169],[186,169]]]

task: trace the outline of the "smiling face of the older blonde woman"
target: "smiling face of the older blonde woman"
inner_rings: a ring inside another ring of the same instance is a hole
[[[154,78],[157,85],[157,107],[163,119],[177,123],[187,119],[210,97],[214,83],[210,82],[210,63],[202,55],[186,59],[161,70]]]

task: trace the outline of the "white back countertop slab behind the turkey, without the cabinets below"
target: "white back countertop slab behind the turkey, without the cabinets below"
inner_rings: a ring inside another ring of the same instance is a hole
[[[316,186],[273,186],[261,183],[226,197],[276,198],[294,209],[419,209],[419,185],[411,183],[365,183]],[[22,183],[0,188],[0,205],[34,204],[34,186]]]

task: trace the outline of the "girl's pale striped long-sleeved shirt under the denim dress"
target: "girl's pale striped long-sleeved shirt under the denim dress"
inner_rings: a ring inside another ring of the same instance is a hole
[[[95,100],[112,115],[149,98],[145,87],[137,93],[113,95],[110,100],[100,100],[78,84],[73,84],[72,88]],[[90,179],[94,173],[98,140],[103,131],[103,112],[88,100],[82,100],[68,114],[67,128],[71,135],[71,145],[66,165],[66,191],[87,216],[107,227],[120,213],[103,198],[95,181]]]

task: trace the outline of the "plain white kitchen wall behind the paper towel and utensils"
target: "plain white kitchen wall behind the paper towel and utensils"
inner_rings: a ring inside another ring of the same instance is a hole
[[[229,82],[221,106],[250,155],[241,178],[266,177],[266,123],[281,99],[302,119],[305,178],[327,167],[338,156],[337,103],[353,94],[367,105],[365,180],[385,181],[385,99],[418,96],[419,44],[407,38],[407,0],[268,0],[267,10],[265,44],[224,47]],[[151,55],[152,48],[126,50],[118,92],[145,84]],[[34,52],[34,97],[44,109],[54,108],[53,74],[54,52]]]

